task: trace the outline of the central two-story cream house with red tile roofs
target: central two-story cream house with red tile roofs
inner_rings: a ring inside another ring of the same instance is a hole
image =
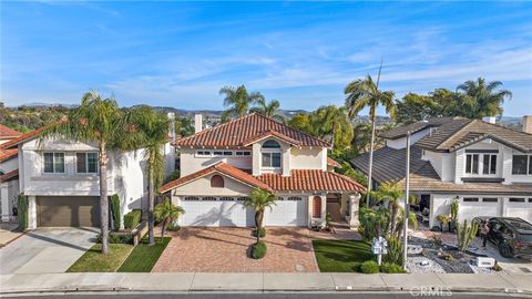
[[[327,142],[260,114],[249,114],[177,140],[181,178],[161,187],[185,214],[183,226],[254,226],[254,212],[243,207],[256,189],[278,197],[266,209],[266,226],[323,224],[327,196],[336,195],[341,215],[358,224],[365,188],[329,171]],[[337,205],[338,206],[338,205]]]

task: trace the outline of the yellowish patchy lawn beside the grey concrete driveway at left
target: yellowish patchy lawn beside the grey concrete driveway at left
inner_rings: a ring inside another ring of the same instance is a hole
[[[127,258],[133,249],[133,245],[110,244],[109,255],[101,254],[102,245],[92,246],[89,251],[78,259],[74,265],[70,266],[68,272],[114,272]]]

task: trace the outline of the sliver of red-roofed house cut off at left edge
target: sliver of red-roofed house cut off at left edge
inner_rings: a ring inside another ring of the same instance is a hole
[[[0,124],[0,145],[22,133]],[[19,162],[17,148],[0,148],[0,215],[2,221],[13,218],[13,207],[19,195]]]

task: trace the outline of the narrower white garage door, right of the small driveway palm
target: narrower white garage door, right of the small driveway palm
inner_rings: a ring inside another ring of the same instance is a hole
[[[272,209],[266,209],[266,226],[307,226],[307,205],[305,197],[279,197]]]

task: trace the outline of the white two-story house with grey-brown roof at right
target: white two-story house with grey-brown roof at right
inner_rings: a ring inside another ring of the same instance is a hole
[[[460,200],[459,220],[474,216],[511,216],[532,221],[532,116],[523,131],[485,121],[440,117],[381,134],[386,146],[374,153],[375,187],[398,182],[405,187],[406,136],[411,136],[410,192],[429,210],[429,225],[449,215]],[[368,173],[369,154],[352,161]]]

